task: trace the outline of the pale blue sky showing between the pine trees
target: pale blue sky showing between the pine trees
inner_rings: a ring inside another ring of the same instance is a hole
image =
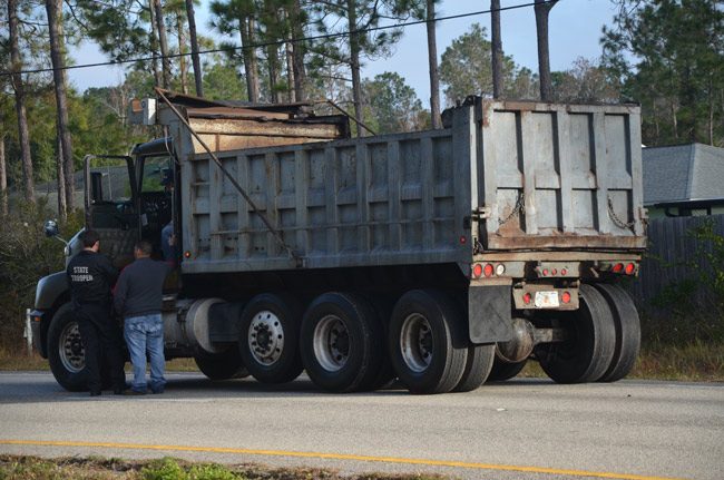
[[[532,0],[501,0],[501,7],[530,3]],[[211,30],[208,17],[209,0],[202,0],[197,7],[197,27],[202,35],[222,40]],[[490,8],[489,0],[443,0],[438,17],[482,11]],[[610,25],[615,14],[612,0],[560,0],[550,11],[549,42],[551,70],[566,70],[579,57],[597,59],[600,56],[600,37],[604,25]],[[472,23],[480,23],[490,31],[490,14],[478,14],[438,22],[438,56],[452,40],[470,30]],[[501,12],[502,48],[512,56],[516,63],[538,70],[536,47],[536,20],[532,7]],[[427,104],[430,97],[428,76],[428,49],[425,26],[408,27],[401,41],[393,48],[391,57],[366,61],[362,76],[372,78],[384,71],[394,71],[405,78],[408,85]],[[91,42],[85,42],[71,51],[76,65],[107,60]],[[68,72],[70,81],[79,90],[88,87],[118,85],[124,78],[119,67],[96,67]]]

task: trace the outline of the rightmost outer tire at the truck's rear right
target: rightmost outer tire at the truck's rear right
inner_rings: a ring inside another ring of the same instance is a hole
[[[636,363],[642,342],[640,321],[636,305],[625,290],[608,284],[598,284],[596,287],[608,302],[616,327],[614,359],[598,381],[615,382],[628,375]]]

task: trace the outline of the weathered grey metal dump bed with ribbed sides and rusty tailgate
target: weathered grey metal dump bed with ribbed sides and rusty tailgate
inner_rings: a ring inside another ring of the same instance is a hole
[[[594,258],[645,246],[638,107],[477,99],[446,120],[441,130],[221,151],[258,212],[169,123],[184,272],[462,266],[481,251]]]

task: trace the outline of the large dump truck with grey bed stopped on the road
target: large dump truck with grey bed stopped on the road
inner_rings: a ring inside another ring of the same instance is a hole
[[[311,105],[159,90],[131,118],[159,138],[86,158],[85,227],[123,267],[173,221],[167,359],[212,380],[304,371],[332,392],[464,392],[528,361],[559,383],[612,382],[634,365],[620,284],[646,246],[638,106],[470,97],[444,128],[350,138],[346,117]],[[79,249],[76,235],[66,254]],[[57,381],[84,389],[62,272],[40,280],[29,320]]]

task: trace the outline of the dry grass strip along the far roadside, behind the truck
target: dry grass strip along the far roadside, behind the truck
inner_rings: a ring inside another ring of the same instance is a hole
[[[48,361],[33,353],[11,352],[0,347],[0,371],[48,371]],[[130,372],[130,364],[126,364]],[[166,362],[168,372],[198,372],[194,359]],[[528,362],[518,376],[545,378],[537,362]],[[648,343],[642,347],[629,379],[677,380],[688,382],[724,381],[724,344],[694,341],[682,345]],[[2,480],[0,478],[0,480]]]

